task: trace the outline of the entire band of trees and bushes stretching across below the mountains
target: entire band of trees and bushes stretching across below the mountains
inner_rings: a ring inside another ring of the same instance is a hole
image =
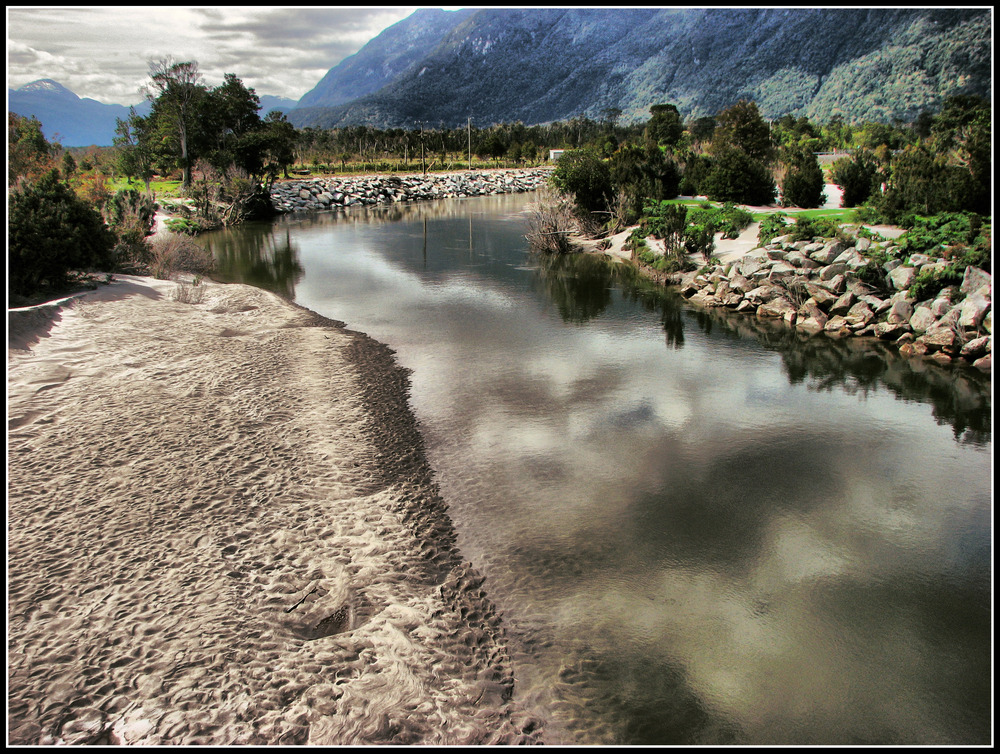
[[[280,112],[262,118],[259,97],[235,74],[210,88],[197,63],[162,60],[151,63],[149,76],[150,114],[133,110],[120,120],[112,148],[64,150],[46,141],[37,120],[8,115],[9,280],[19,279],[22,289],[59,279],[57,268],[69,269],[69,260],[86,267],[83,261],[92,259],[90,266],[107,269],[109,260],[148,258],[143,239],[152,227],[150,187],[157,176],[179,177],[193,205],[187,224],[195,230],[266,213],[271,182],[294,166],[345,169],[351,162],[395,160],[457,168],[470,153],[497,165],[524,165],[546,161],[550,149],[566,150],[554,181],[591,227],[608,219],[634,223],[649,203],[679,194],[737,204],[780,197],[786,206],[819,206],[824,175],[817,153],[834,150],[845,156],[834,162],[830,177],[844,190],[844,206],[858,207],[866,221],[987,214],[991,206],[992,113],[987,101],[973,96],[952,97],[940,112],[921,113],[912,123],[852,124],[835,116],[816,124],[791,115],[768,122],[754,102],[741,101],[687,121],[676,106],[661,103],[647,122],[629,125],[619,124],[621,111],[610,108],[599,120],[533,126],[298,130]],[[144,191],[116,194],[108,188],[109,174],[141,181]],[[63,211],[75,202],[82,204]],[[99,252],[77,253],[89,242],[69,226],[89,227],[85,215],[110,231],[89,234],[99,240]],[[51,244],[38,241],[36,232]],[[57,253],[69,243],[78,248]],[[43,247],[45,254],[37,251]],[[45,266],[43,256],[56,260],[54,266],[27,274],[33,265]],[[19,271],[25,272],[21,278]]]

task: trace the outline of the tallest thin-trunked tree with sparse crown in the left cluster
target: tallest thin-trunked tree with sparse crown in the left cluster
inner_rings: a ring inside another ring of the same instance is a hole
[[[195,128],[197,105],[206,92],[200,83],[198,64],[192,61],[172,63],[167,58],[150,63],[149,77],[152,88],[147,91],[146,98],[153,103],[150,117],[154,121],[165,120],[175,129],[181,185],[187,188],[191,185],[193,162],[188,154],[188,142]]]

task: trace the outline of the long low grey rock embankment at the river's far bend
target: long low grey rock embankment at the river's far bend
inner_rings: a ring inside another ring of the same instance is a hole
[[[308,212],[370,204],[514,194],[538,189],[551,172],[550,168],[533,168],[482,173],[292,180],[271,187],[271,202],[278,212]]]

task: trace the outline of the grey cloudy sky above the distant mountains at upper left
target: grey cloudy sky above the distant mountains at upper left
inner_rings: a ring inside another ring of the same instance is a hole
[[[142,100],[150,60],[196,60],[208,86],[235,73],[299,99],[403,7],[7,7],[7,87],[52,79],[106,104]]]

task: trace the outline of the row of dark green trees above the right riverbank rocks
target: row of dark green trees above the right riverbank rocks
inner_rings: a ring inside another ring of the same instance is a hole
[[[817,152],[831,140],[845,150],[831,181],[843,189],[843,206],[862,207],[867,221],[990,211],[991,110],[979,97],[952,97],[940,113],[905,127],[818,127],[792,116],[768,123],[750,101],[688,123],[669,104],[651,114],[637,144],[607,156],[589,146],[560,159],[553,180],[574,197],[578,214],[633,223],[645,203],[682,194],[748,205],[780,196],[782,206],[818,207],[826,179]]]

